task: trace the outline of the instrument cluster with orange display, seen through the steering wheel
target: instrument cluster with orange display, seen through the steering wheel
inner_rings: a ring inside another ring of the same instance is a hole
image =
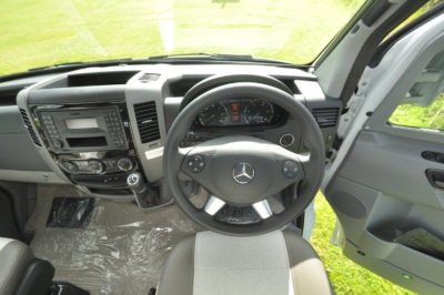
[[[232,99],[202,110],[196,121],[201,126],[268,126],[286,118],[278,105],[264,99]]]

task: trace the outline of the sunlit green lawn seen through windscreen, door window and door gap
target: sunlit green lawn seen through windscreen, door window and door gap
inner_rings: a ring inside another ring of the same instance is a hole
[[[172,9],[165,1],[2,0],[0,75],[61,62],[164,54],[159,20],[168,19],[171,10],[174,11],[176,40],[169,53],[238,52],[307,63],[363,2],[188,0],[174,1]],[[199,35],[196,28],[210,33]],[[264,35],[270,38],[269,42],[264,42]],[[236,45],[239,43],[242,47]],[[438,103],[437,109],[442,110],[442,100]],[[420,110],[403,106],[396,111],[393,122],[422,120],[420,123],[426,124],[437,109],[423,115]],[[434,124],[442,124],[440,122],[434,121]],[[325,263],[337,294],[408,294],[357,266],[331,245],[334,224],[333,211],[324,197],[317,195],[312,244]]]

